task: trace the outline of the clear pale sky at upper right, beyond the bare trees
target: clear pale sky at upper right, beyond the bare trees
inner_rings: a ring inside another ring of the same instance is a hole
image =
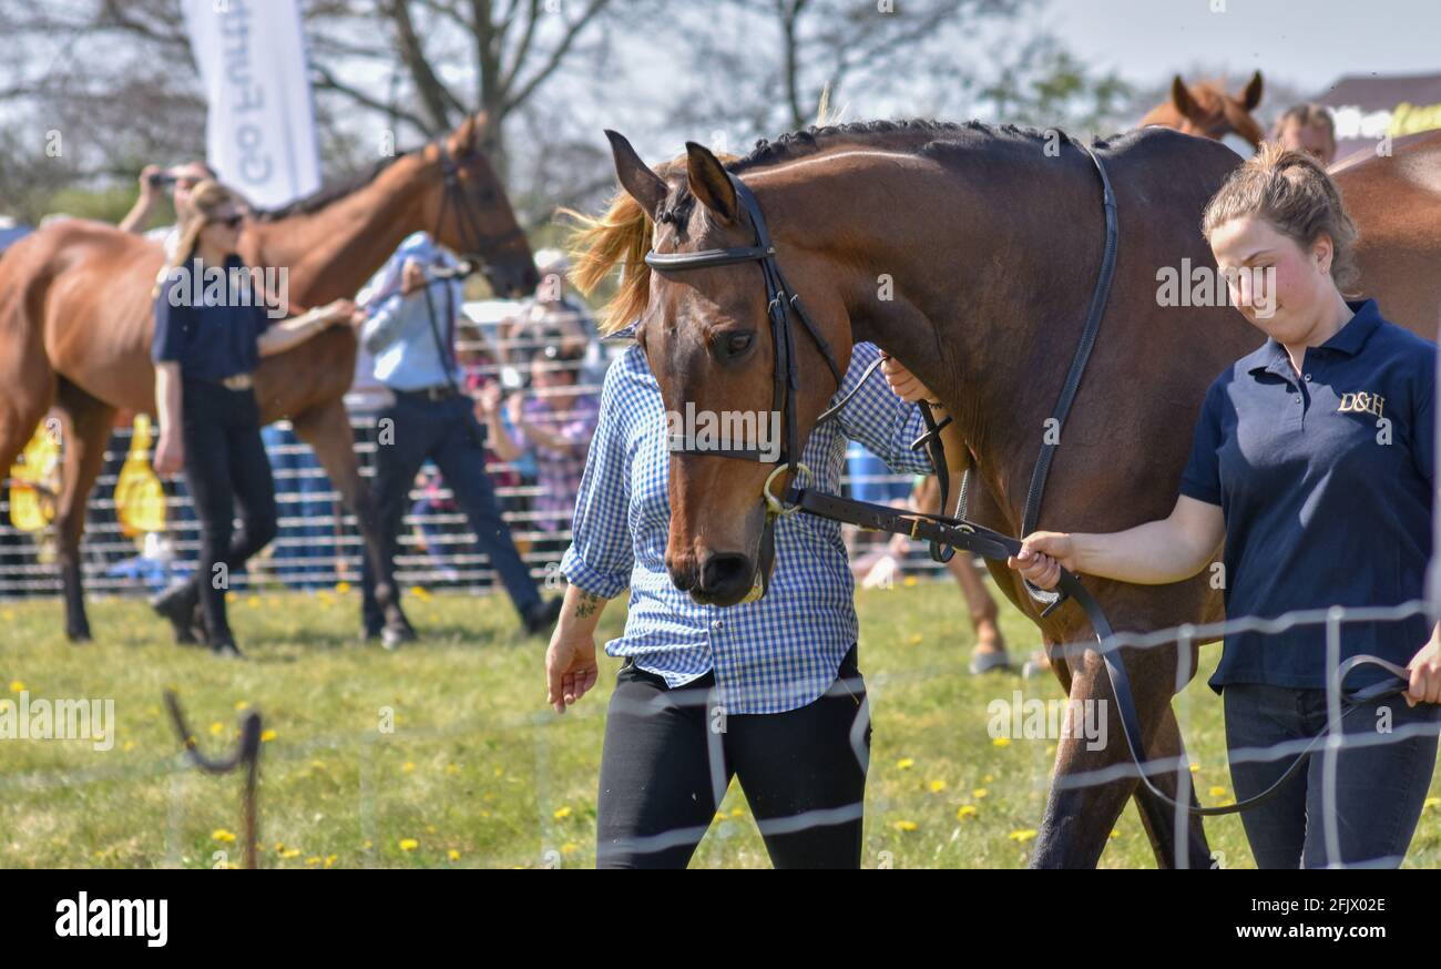
[[[1045,16],[1082,61],[1138,82],[1205,63],[1320,94],[1346,74],[1441,71],[1441,0],[1052,0]]]

